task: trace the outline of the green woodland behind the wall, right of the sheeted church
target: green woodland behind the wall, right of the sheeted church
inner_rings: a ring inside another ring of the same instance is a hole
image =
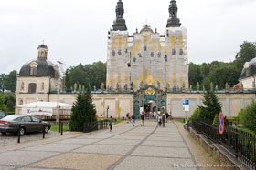
[[[226,82],[233,86],[239,83],[239,78],[245,62],[251,61],[256,57],[256,43],[244,42],[240,45],[240,52],[237,53],[232,62],[213,61],[196,65],[189,64],[189,83],[194,88],[197,82],[203,85],[209,85],[211,82],[218,85],[219,88],[225,88]]]

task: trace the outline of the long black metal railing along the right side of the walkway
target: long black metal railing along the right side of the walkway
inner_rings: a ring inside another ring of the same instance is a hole
[[[255,135],[231,126],[226,126],[224,133],[219,135],[218,126],[196,120],[192,120],[192,128],[197,133],[206,135],[214,143],[222,145],[251,169],[256,169]]]

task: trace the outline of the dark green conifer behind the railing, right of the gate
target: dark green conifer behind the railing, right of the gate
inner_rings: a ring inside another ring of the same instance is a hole
[[[209,90],[209,87],[204,95],[203,104],[205,106],[199,107],[201,111],[199,119],[212,124],[214,117],[219,115],[219,112],[221,111],[221,103],[219,102],[217,95],[215,95],[213,91]]]

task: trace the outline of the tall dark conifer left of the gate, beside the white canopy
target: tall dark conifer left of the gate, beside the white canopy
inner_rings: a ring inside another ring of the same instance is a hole
[[[82,131],[83,124],[96,120],[96,109],[92,103],[91,86],[87,87],[86,93],[79,93],[77,100],[71,109],[69,129],[71,131]]]

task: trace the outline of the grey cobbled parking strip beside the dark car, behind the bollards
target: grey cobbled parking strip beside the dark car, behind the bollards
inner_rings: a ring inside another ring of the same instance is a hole
[[[65,135],[70,134],[70,132],[65,132]],[[57,137],[59,136],[58,132],[49,131],[45,134],[45,138]],[[30,133],[21,136],[21,143],[27,143],[31,141],[37,141],[43,138],[43,133]],[[15,134],[6,134],[3,135],[0,133],[0,147],[6,145],[16,145],[17,144],[17,135]]]

